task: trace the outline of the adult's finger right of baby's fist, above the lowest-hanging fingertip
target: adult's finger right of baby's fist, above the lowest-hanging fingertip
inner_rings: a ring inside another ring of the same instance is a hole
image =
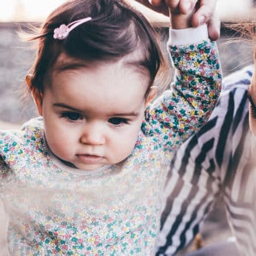
[[[192,25],[198,27],[212,19],[216,7],[216,0],[199,0],[198,10],[192,17]]]

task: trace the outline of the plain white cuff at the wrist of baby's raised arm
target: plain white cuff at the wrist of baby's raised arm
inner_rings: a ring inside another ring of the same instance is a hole
[[[168,44],[195,44],[202,40],[209,40],[208,28],[204,24],[197,28],[185,28],[183,30],[169,30]]]

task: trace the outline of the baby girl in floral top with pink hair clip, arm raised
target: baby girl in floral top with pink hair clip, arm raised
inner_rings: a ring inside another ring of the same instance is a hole
[[[206,26],[171,30],[176,77],[153,103],[163,54],[123,1],[67,1],[32,40],[26,82],[41,117],[0,135],[10,254],[153,255],[173,149],[220,91]]]

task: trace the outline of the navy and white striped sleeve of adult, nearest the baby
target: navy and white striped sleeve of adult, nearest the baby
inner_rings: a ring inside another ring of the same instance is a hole
[[[165,184],[156,255],[175,255],[194,238],[222,193],[225,179],[230,179],[234,143],[243,139],[248,123],[247,87],[252,70],[249,66],[224,79],[210,119],[175,153]]]

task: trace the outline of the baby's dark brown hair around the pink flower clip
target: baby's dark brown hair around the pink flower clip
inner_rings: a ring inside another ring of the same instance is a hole
[[[92,20],[77,26],[65,40],[53,38],[55,28],[84,17]],[[38,40],[36,60],[30,69],[30,91],[36,95],[44,93],[44,85],[49,83],[51,70],[62,52],[77,60],[104,62],[119,60],[138,50],[142,54],[133,55],[140,56],[134,64],[148,71],[148,91],[157,74],[167,67],[153,26],[144,15],[120,0],[67,1],[50,13],[40,32],[30,40]]]

